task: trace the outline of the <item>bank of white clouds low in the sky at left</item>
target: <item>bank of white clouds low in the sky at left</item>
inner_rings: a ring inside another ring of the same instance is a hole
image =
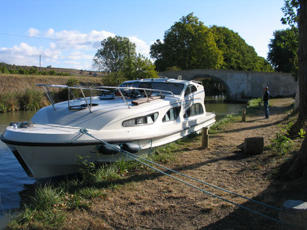
[[[67,67],[77,69],[91,69],[92,60],[97,49],[101,47],[101,41],[115,34],[108,31],[54,31],[49,28],[45,32],[36,28],[29,28],[29,36],[50,40],[40,40],[40,46],[21,42],[13,47],[0,47],[0,62],[15,65],[39,65],[39,56],[42,56],[42,66]],[[136,36],[130,36],[129,40],[136,44],[136,52],[149,57],[150,45]],[[33,40],[31,40],[33,41]]]

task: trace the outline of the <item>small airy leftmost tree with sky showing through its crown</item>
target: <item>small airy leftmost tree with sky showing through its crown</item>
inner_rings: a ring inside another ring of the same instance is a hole
[[[115,36],[101,42],[102,48],[98,49],[93,59],[93,67],[100,71],[116,73],[123,70],[127,59],[136,56],[136,45],[128,38]]]

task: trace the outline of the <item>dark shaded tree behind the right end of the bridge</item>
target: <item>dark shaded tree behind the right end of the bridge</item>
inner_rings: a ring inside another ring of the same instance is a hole
[[[274,38],[269,43],[267,60],[277,72],[292,73],[295,79],[298,74],[297,51],[299,49],[299,30],[297,27],[274,31]]]

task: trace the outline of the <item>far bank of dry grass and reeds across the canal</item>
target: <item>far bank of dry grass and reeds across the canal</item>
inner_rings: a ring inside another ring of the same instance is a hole
[[[69,82],[80,85],[100,85],[101,78],[85,76],[37,76],[21,74],[0,74],[0,112],[14,110],[38,110],[49,104],[45,92],[36,84],[66,85]],[[56,98],[59,98],[53,91]]]

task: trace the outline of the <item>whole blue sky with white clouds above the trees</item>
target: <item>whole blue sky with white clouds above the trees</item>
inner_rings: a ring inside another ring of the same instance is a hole
[[[0,0],[0,62],[92,69],[100,42],[120,35],[150,57],[150,44],[182,16],[239,33],[259,56],[281,24],[283,0]]]

